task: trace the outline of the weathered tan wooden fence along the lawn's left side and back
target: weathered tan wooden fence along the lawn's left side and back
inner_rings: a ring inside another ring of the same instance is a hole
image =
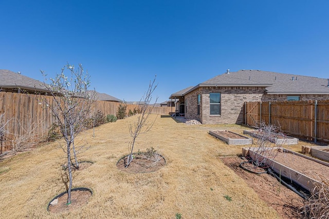
[[[50,104],[53,102],[52,96],[44,97]],[[96,101],[90,115],[97,111],[101,111],[104,115],[116,115],[119,105],[120,103],[116,102]],[[126,112],[137,108],[138,105],[127,105]],[[170,112],[171,107],[154,107],[152,111],[153,114],[169,114]],[[5,143],[8,143],[13,136],[26,133],[30,133],[33,137],[44,137],[51,124],[56,122],[49,108],[43,107],[34,94],[0,92],[0,116],[0,128],[1,124],[6,124]],[[2,144],[0,153],[4,150],[8,150],[8,147]]]

